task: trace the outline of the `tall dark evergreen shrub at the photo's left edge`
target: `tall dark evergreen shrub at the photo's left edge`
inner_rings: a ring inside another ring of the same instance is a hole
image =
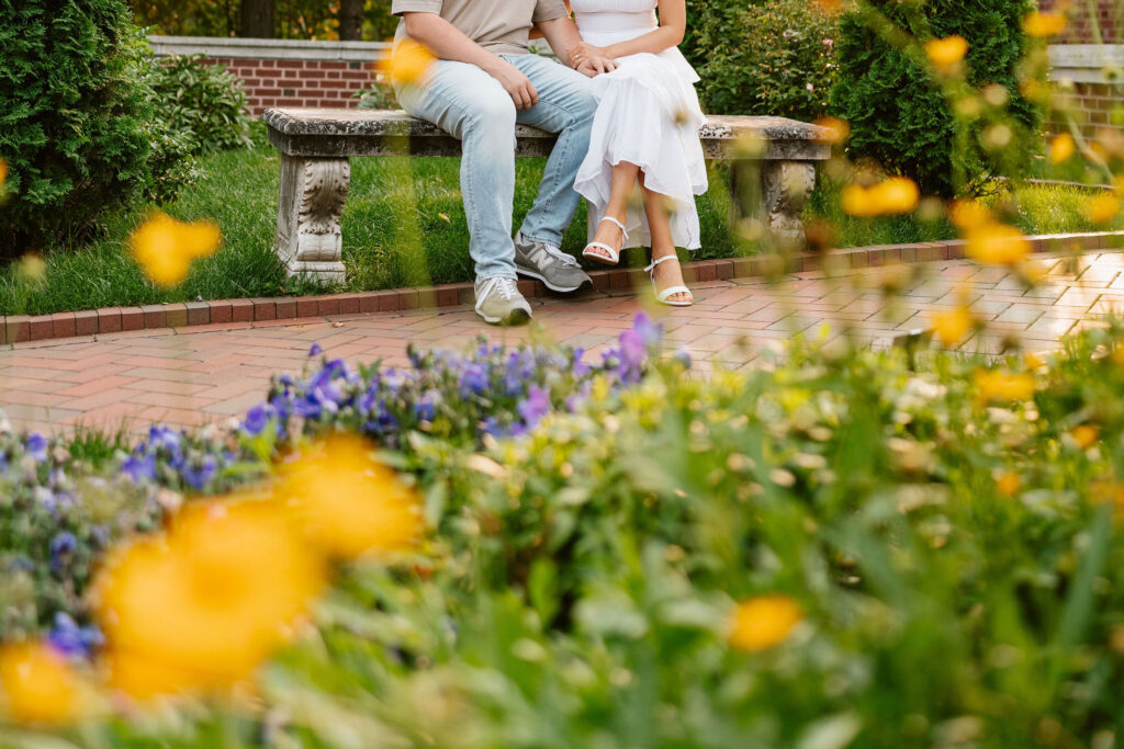
[[[106,211],[190,180],[190,145],[156,121],[124,0],[0,0],[0,258],[83,239]]]

